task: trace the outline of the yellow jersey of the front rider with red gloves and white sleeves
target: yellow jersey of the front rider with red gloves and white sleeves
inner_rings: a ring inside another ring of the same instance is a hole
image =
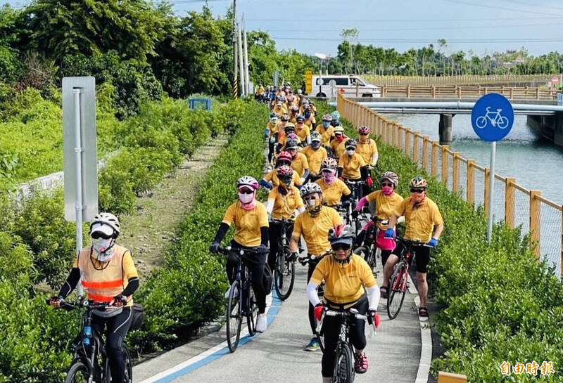
[[[324,280],[324,297],[337,304],[358,301],[365,287],[377,286],[372,268],[360,256],[352,254],[350,262],[340,264],[334,257],[321,259],[311,275],[311,282],[320,285]]]

